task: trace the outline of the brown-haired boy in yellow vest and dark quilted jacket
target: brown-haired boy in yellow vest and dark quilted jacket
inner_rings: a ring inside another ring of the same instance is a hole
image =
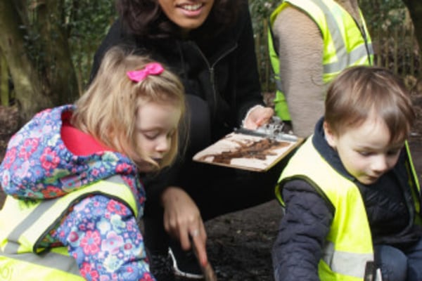
[[[272,252],[285,280],[422,280],[421,195],[406,139],[415,115],[391,72],[352,67],[283,170]],[[378,275],[379,280],[379,275]]]

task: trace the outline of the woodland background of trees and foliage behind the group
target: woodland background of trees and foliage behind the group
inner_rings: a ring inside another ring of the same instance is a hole
[[[422,1],[359,2],[376,46],[376,62],[418,79]],[[114,3],[0,1],[0,103],[18,107],[19,124],[46,107],[71,103],[82,93],[94,52],[116,18]],[[267,55],[267,18],[280,0],[249,3],[262,89],[270,92],[274,83]]]

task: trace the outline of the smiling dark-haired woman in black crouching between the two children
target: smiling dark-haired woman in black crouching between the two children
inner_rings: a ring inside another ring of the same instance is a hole
[[[274,113],[264,107],[260,93],[248,3],[118,0],[117,11],[120,19],[96,53],[92,77],[110,46],[126,45],[169,65],[181,78],[188,101],[188,148],[171,169],[144,178],[146,247],[153,256],[167,253],[164,226],[177,238],[170,241],[175,272],[201,277],[198,265],[187,262],[180,246],[191,249],[191,237],[205,265],[203,221],[271,200],[280,172],[277,167],[263,174],[245,172],[191,160],[234,127],[256,129]]]

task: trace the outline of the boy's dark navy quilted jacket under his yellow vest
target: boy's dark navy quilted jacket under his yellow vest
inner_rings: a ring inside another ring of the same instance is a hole
[[[326,142],[322,122],[323,119],[316,124],[312,143],[338,173],[357,183],[368,215],[373,244],[406,249],[409,244],[421,239],[421,228],[413,223],[415,209],[407,185],[405,151],[402,151],[396,166],[376,183],[362,185],[346,171],[338,153]],[[275,280],[319,280],[318,263],[333,212],[306,181],[286,183],[282,195],[286,214],[281,220],[272,252]]]

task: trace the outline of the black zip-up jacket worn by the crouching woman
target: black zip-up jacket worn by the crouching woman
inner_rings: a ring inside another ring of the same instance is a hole
[[[239,8],[241,11],[236,23],[201,46],[194,39],[136,37],[126,32],[117,20],[98,48],[91,79],[95,77],[104,53],[116,45],[134,48],[136,53],[167,65],[181,78],[186,94],[202,98],[210,109],[209,124],[203,124],[202,128],[198,126],[203,131],[210,131],[210,140],[195,145],[195,150],[205,148],[239,126],[252,106],[263,104],[247,1]],[[191,116],[191,120],[195,119]],[[186,157],[191,156],[188,154]],[[158,190],[155,188],[156,192],[168,185],[179,185],[177,174],[180,165],[174,165],[165,171],[165,176],[158,177],[160,183]],[[151,199],[151,194],[148,194],[148,199]]]

